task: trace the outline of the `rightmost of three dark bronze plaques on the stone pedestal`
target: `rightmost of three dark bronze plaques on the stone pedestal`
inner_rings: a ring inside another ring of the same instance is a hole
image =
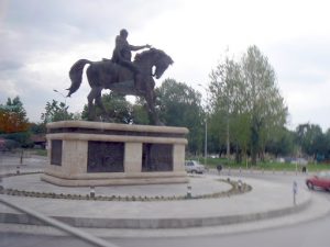
[[[173,145],[143,144],[142,171],[173,171]]]

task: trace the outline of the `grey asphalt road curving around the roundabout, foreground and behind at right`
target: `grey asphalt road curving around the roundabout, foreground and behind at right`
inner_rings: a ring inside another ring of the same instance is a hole
[[[262,178],[268,181],[276,181],[292,184],[298,182],[299,190],[306,188],[306,176],[294,175],[261,175],[244,173],[244,177]],[[318,197],[324,197],[330,201],[330,193],[324,191],[314,191]],[[279,227],[273,229],[257,231],[243,234],[212,235],[212,236],[190,236],[190,237],[154,237],[154,238],[111,238],[107,239],[111,244],[120,247],[329,247],[330,246],[330,215],[323,218],[315,220],[309,223],[294,225],[289,227]],[[92,246],[75,237],[55,237],[46,235],[28,235],[0,233],[0,246],[10,247],[85,247]]]

